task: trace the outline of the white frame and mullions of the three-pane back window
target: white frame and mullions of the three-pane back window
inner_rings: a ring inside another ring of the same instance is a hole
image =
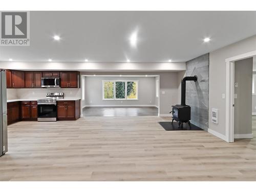
[[[104,98],[104,82],[114,82],[114,98],[113,99],[105,99]],[[116,98],[116,82],[125,82],[125,98]],[[136,98],[127,98],[127,82],[136,82],[137,83],[137,89],[136,89]],[[127,101],[127,100],[139,100],[138,96],[139,96],[139,80],[102,80],[102,100],[103,101],[108,101],[108,100],[116,100],[116,101]]]

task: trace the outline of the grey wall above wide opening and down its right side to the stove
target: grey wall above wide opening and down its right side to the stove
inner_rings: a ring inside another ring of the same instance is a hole
[[[160,115],[169,115],[172,105],[178,102],[178,89],[180,80],[179,72],[81,72],[81,75],[159,75],[160,93],[159,93],[159,113]]]

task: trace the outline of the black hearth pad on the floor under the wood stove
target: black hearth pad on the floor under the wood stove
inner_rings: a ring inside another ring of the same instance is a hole
[[[188,123],[183,123],[183,129],[178,127],[178,122],[173,122],[172,121],[162,121],[158,122],[165,131],[203,131],[200,127],[194,125],[191,123],[191,129],[188,125]]]

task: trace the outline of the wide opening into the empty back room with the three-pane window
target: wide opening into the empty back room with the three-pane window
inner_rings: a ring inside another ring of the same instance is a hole
[[[82,116],[159,116],[159,75],[83,75]]]

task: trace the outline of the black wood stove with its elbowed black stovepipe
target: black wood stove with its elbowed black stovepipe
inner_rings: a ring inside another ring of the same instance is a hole
[[[172,105],[173,111],[170,113],[173,113],[173,120],[178,121],[179,128],[183,127],[183,123],[188,123],[189,127],[190,125],[190,112],[191,108],[189,105],[186,105],[186,81],[197,81],[197,76],[187,76],[184,77],[181,81],[181,104]]]

